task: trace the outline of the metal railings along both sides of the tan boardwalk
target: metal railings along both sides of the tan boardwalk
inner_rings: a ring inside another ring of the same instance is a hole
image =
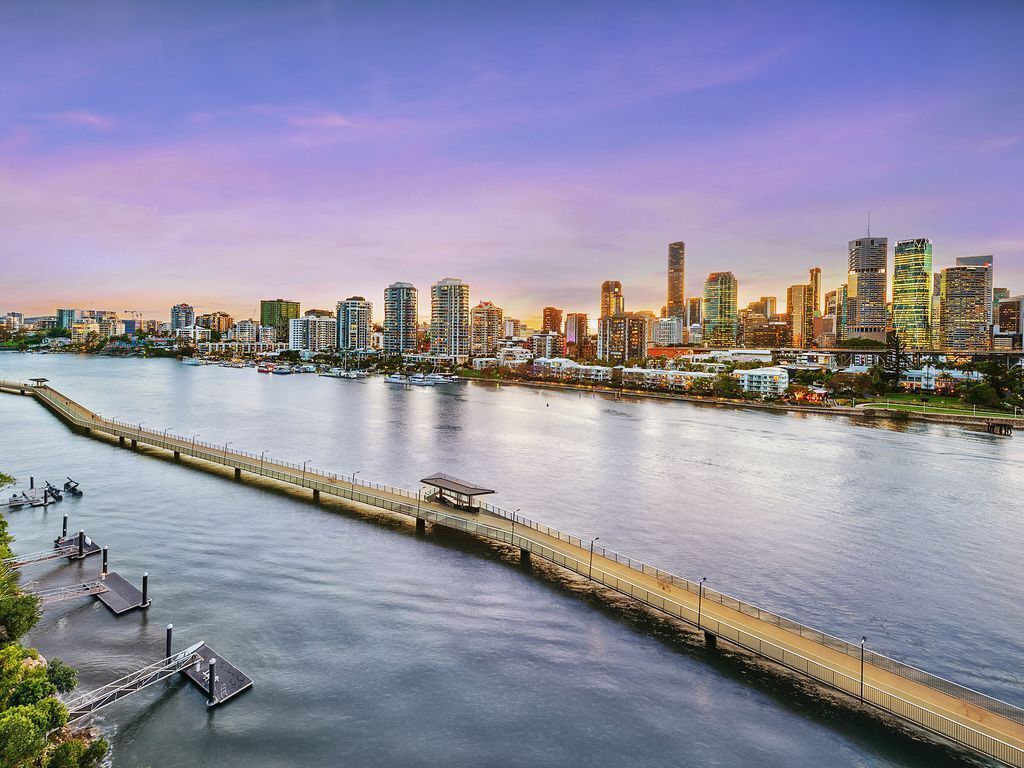
[[[4,384],[6,383],[0,382],[0,387],[3,387]],[[404,501],[396,501],[394,499],[388,499],[387,497],[380,496],[379,493],[371,493],[383,492],[391,496],[399,497],[400,499],[419,501],[419,494],[414,494],[406,488],[398,488],[382,483],[368,482],[359,480],[354,476],[342,475],[339,477],[337,474],[317,470],[313,467],[309,467],[308,465],[302,466],[276,459],[266,458],[265,452],[263,455],[257,455],[249,452],[238,451],[236,449],[228,450],[224,445],[216,445],[206,441],[197,441],[194,438],[173,435],[169,432],[144,429],[141,424],[128,424],[118,420],[102,419],[98,415],[92,414],[92,412],[88,409],[85,409],[79,403],[74,402],[73,400],[57,393],[52,388],[46,386],[30,387],[29,385],[13,384],[11,385],[11,388],[32,389],[33,393],[39,396],[40,399],[44,400],[48,406],[61,414],[68,421],[78,426],[102,430],[118,437],[144,441],[145,443],[156,447],[176,451],[187,456],[223,464],[236,469],[259,474],[264,477],[282,480],[292,484],[298,484],[302,487],[331,494],[340,498],[386,509],[388,511],[407,516],[438,522],[449,527],[477,534],[492,540],[513,544],[514,546],[521,547],[522,549],[537,554],[550,562],[582,575],[587,575],[605,587],[628,595],[652,608],[666,612],[677,618],[681,618],[694,626],[697,625],[697,611],[695,609],[690,606],[683,605],[678,601],[672,600],[667,597],[665,593],[653,593],[641,585],[607,573],[601,567],[600,560],[603,558],[621,565],[625,565],[627,568],[636,571],[637,573],[652,577],[659,583],[671,585],[672,587],[678,587],[694,595],[699,595],[702,600],[720,604],[744,615],[749,615],[773,625],[799,637],[807,638],[808,640],[818,643],[826,648],[830,648],[848,656],[855,657],[858,660],[860,658],[861,647],[859,644],[849,643],[819,630],[802,625],[799,622],[794,622],[793,620],[785,618],[772,611],[731,597],[725,593],[718,592],[706,586],[701,587],[701,585],[696,582],[691,582],[687,579],[677,577],[674,573],[662,570],[660,568],[656,568],[643,561],[620,554],[605,547],[594,547],[594,556],[597,558],[597,561],[594,563],[593,568],[590,567],[588,562],[585,569],[582,560],[575,559],[563,552],[551,549],[540,542],[524,537],[521,532],[517,532],[517,535],[513,537],[510,531],[502,528],[469,520],[462,516],[440,513],[429,507],[424,507],[422,504],[411,504]],[[301,470],[301,474],[295,474],[290,471],[282,471],[282,469]],[[339,483],[345,483],[348,487]],[[589,551],[589,548],[591,547],[589,540],[584,540],[580,537],[571,536],[570,534],[559,530],[558,528],[544,525],[543,523],[536,522],[535,520],[522,515],[509,512],[501,507],[481,503],[479,508],[481,511],[497,517],[510,521],[514,520],[516,526],[521,526],[521,528],[525,530],[536,530],[540,534],[565,542],[570,546],[580,549],[586,549]],[[807,658],[790,648],[784,648],[780,645],[771,643],[763,637],[751,635],[744,630],[729,625],[728,623],[711,618],[707,616],[707,614],[701,617],[699,627],[709,632],[713,632],[724,639],[730,640],[740,647],[746,648],[748,650],[767,658],[771,658],[788,669],[807,675],[808,677],[818,680],[819,682],[847,693],[859,695],[860,686],[862,684],[862,681],[859,678],[854,679],[840,670]],[[936,675],[932,675],[910,665],[906,665],[897,659],[869,650],[864,651],[864,662],[865,664],[869,664],[880,670],[884,670],[901,678],[920,683],[952,698],[980,707],[988,712],[997,714],[1016,723],[1024,723],[1024,710],[1021,708],[945,680]],[[854,686],[851,681],[855,682],[856,685]],[[863,700],[894,715],[909,720],[910,722],[913,722],[922,727],[928,728],[936,733],[940,733],[961,743],[983,752],[986,755],[995,757],[996,759],[1011,765],[1024,766],[1024,752],[1013,744],[1009,744],[989,734],[973,729],[970,726],[964,725],[958,721],[945,717],[942,714],[929,710],[921,705],[901,698],[894,693],[864,684]]]

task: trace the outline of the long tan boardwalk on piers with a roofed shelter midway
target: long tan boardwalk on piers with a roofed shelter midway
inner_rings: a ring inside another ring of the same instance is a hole
[[[592,542],[497,507],[472,496],[456,500],[436,493],[413,493],[356,481],[308,467],[219,447],[195,439],[104,419],[45,383],[0,381],[0,391],[36,398],[78,431],[117,439],[132,447],[145,445],[244,473],[271,478],[311,492],[384,509],[416,520],[468,531],[518,547],[521,556],[543,558],[628,595],[651,608],[696,627],[710,646],[719,639],[772,659],[855,699],[918,727],[937,733],[981,755],[1024,768],[1024,710],[986,696],[876,653],[863,643],[849,643],[783,618],[755,605],[708,589],[702,583],[638,562]],[[200,465],[193,465],[200,466]],[[436,480],[437,477],[428,480]],[[457,483],[455,478],[445,478]],[[434,482],[432,487],[437,487]],[[461,483],[464,489],[476,489]],[[456,489],[458,487],[453,485]]]

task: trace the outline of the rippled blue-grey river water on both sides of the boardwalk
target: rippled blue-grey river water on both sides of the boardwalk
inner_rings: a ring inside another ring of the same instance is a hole
[[[1024,705],[1024,442],[943,425],[464,383],[395,388],[173,360],[0,355],[103,416],[495,503]],[[709,656],[641,611],[459,535],[314,506],[70,432],[0,395],[0,469],[80,480],[10,514],[111,548],[153,606],[48,609],[30,641],[109,682],[207,641],[255,680],[207,711],[186,681],[96,717],[114,765],[933,766],[970,759]],[[98,569],[37,565],[67,584]]]

